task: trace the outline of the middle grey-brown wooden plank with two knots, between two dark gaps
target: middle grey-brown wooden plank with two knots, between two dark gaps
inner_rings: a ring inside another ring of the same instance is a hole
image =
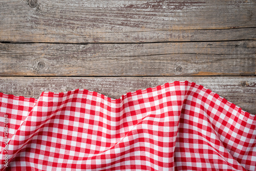
[[[255,75],[256,41],[0,44],[0,75]]]

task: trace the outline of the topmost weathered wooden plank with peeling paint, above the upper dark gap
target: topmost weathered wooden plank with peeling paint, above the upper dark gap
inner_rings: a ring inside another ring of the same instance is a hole
[[[0,41],[255,40],[253,0],[37,0],[30,6],[28,1],[0,1]]]

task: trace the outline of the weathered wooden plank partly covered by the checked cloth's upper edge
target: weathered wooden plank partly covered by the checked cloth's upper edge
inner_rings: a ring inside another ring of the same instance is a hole
[[[38,98],[43,91],[87,89],[119,98],[127,92],[177,80],[201,84],[243,110],[256,114],[256,77],[0,77],[0,92]]]

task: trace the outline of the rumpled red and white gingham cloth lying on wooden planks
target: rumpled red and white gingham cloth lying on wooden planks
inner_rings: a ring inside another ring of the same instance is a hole
[[[256,117],[193,82],[119,99],[0,93],[0,112],[2,170],[256,170]]]

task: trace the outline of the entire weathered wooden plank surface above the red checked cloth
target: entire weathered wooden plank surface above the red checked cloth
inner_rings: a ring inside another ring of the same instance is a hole
[[[194,81],[256,114],[256,1],[1,0],[0,92]]]

